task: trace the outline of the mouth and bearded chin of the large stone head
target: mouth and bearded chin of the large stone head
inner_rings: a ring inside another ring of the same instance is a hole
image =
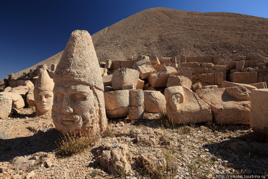
[[[88,116],[91,116],[90,114]],[[55,128],[63,134],[78,135],[91,128],[92,117],[77,114],[52,114]]]

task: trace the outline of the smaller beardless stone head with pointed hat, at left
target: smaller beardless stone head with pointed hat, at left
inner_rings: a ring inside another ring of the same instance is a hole
[[[53,105],[53,79],[49,77],[49,74],[43,71],[34,88],[35,97],[35,110],[38,115],[44,115],[51,112]]]

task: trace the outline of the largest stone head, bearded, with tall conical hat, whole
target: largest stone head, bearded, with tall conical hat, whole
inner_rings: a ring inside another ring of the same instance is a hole
[[[76,30],[54,74],[52,119],[64,134],[93,132],[106,127],[104,87],[91,36]]]

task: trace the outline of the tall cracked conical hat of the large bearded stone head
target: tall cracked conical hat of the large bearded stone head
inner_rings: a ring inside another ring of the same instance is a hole
[[[75,30],[71,34],[55,70],[55,83],[64,86],[70,80],[104,91],[98,58],[86,30]]]

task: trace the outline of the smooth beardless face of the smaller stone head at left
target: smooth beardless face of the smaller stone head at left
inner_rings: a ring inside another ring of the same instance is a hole
[[[40,115],[51,112],[53,105],[53,92],[52,91],[40,91],[35,95],[36,110]]]

